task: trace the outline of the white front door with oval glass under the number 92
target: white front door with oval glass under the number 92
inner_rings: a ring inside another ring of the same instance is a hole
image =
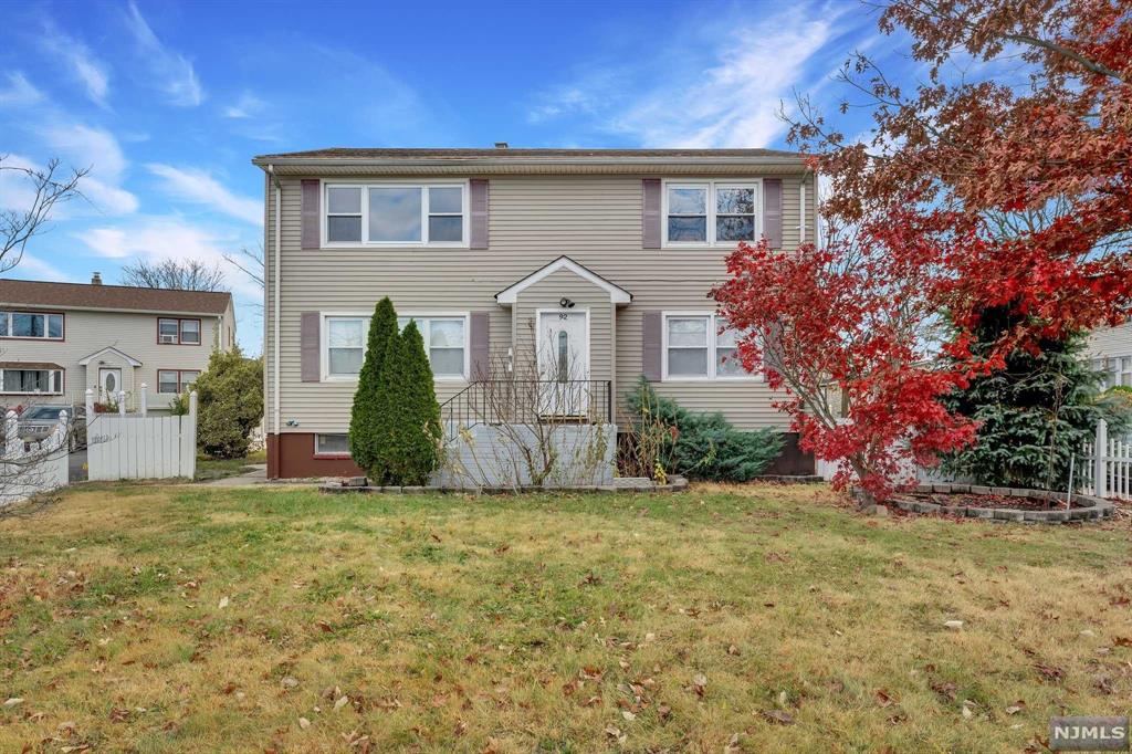
[[[539,379],[542,413],[584,415],[590,408],[589,312],[539,312]]]

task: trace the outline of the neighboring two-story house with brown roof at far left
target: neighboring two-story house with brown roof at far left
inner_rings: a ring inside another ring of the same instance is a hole
[[[105,403],[168,410],[235,343],[231,293],[0,280],[0,404],[80,405],[87,388]]]

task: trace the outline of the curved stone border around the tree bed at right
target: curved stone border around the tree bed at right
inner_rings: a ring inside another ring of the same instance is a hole
[[[915,492],[936,495],[998,495],[1002,497],[1024,497],[1035,500],[1065,502],[1065,492],[1044,489],[1015,489],[1012,487],[980,487],[978,485],[918,485]],[[1094,495],[1074,492],[1073,506],[1053,511],[1024,511],[1021,508],[980,508],[972,505],[944,506],[926,500],[895,495],[892,503],[909,513],[944,513],[968,519],[990,521],[1013,521],[1015,523],[1067,523],[1071,521],[1100,521],[1116,515],[1116,505]]]

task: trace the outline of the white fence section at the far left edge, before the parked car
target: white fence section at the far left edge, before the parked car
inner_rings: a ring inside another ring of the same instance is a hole
[[[9,411],[3,420],[5,443],[0,454],[0,508],[67,485],[67,445],[70,428],[66,411],[41,443],[25,446],[19,418]]]

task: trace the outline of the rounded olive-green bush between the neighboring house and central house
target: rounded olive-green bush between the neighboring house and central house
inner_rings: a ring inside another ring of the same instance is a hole
[[[213,351],[197,378],[197,445],[214,459],[242,459],[264,418],[264,362],[239,348]]]

